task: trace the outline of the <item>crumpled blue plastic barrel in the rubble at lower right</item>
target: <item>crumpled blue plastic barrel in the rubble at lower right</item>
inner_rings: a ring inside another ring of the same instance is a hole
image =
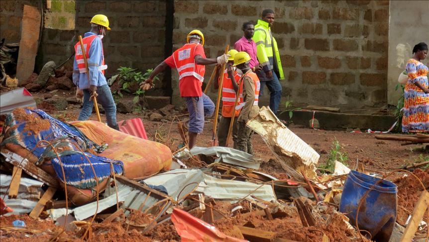
[[[363,195],[380,179],[350,171],[344,183],[339,211],[346,214],[355,226],[356,211]],[[379,182],[367,194],[359,208],[358,225],[361,233],[376,242],[388,242],[395,226],[397,187],[390,181]]]

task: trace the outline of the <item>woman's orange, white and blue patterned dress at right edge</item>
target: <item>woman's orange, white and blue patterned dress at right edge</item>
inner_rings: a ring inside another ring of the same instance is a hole
[[[409,59],[406,67],[408,82],[404,90],[403,132],[429,132],[429,94],[415,83],[428,88],[428,67],[415,59]]]

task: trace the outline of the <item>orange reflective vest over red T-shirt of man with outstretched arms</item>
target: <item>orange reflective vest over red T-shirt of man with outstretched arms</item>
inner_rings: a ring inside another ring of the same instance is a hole
[[[184,77],[188,76],[193,76],[200,82],[204,81],[205,66],[195,63],[195,48],[197,45],[199,44],[185,44],[182,48],[173,53],[174,64],[179,73],[179,82],[182,81]]]

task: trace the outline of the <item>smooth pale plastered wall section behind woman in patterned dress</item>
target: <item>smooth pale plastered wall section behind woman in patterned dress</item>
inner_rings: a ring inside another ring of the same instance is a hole
[[[417,43],[429,44],[429,1],[391,1],[389,21],[388,103],[396,105],[402,91],[395,91],[398,76],[413,57]],[[423,61],[429,64],[429,58]]]

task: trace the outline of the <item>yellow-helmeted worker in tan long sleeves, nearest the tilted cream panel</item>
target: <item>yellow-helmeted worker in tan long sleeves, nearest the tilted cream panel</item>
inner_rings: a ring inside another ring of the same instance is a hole
[[[243,103],[241,112],[237,120],[237,142],[234,141],[234,148],[253,154],[252,135],[253,130],[246,126],[247,120],[255,117],[259,112],[259,90],[261,84],[258,76],[252,72],[249,65],[250,56],[246,52],[238,52],[234,56],[234,66],[243,72],[242,89]]]

